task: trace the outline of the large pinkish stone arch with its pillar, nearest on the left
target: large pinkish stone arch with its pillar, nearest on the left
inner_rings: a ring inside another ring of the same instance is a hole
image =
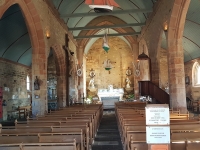
[[[5,3],[0,6],[0,17],[13,4],[18,4],[20,6],[31,39],[33,50],[32,83],[34,83],[36,76],[40,81],[40,90],[35,91],[32,84],[32,113],[33,115],[42,115],[47,111],[47,87],[45,84],[47,78],[47,55],[42,23],[34,3],[27,0],[5,1]],[[39,95],[39,99],[36,99],[35,95]]]

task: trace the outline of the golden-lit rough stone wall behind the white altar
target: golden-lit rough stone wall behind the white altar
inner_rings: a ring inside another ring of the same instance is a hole
[[[95,87],[108,88],[113,85],[114,88],[124,88],[126,86],[126,70],[130,68],[132,75],[129,76],[131,87],[134,87],[133,75],[133,52],[126,42],[118,37],[109,37],[110,50],[106,53],[102,48],[102,39],[98,39],[90,48],[87,54],[86,64],[86,86],[90,81],[90,70],[95,71]],[[110,71],[105,70],[103,63],[106,59],[111,61],[113,68]]]

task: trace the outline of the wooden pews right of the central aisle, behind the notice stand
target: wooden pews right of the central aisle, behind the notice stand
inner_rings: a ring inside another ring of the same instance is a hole
[[[126,104],[116,104],[115,106],[124,150],[148,149],[148,145],[146,144],[145,115],[138,113],[139,111],[134,111],[144,109],[142,108],[143,105],[138,105],[134,106],[132,104],[132,106],[129,105],[126,107]],[[172,116],[170,119],[171,150],[193,150],[194,145],[199,145],[199,119],[190,119],[188,114],[180,114],[177,112],[170,113],[170,116]],[[194,140],[197,142],[194,142]]]

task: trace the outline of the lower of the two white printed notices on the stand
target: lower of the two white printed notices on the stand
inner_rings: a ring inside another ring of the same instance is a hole
[[[169,126],[147,126],[146,141],[148,144],[170,143]]]

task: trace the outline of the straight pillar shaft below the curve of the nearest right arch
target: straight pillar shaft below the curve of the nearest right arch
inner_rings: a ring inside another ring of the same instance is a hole
[[[187,111],[182,38],[170,39],[168,48],[169,94],[173,109]]]

